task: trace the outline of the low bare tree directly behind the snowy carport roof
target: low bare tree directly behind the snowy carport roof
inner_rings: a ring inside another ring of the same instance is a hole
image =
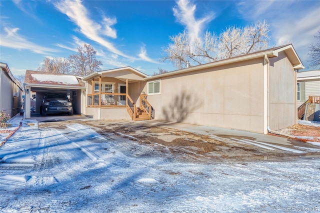
[[[63,57],[45,57],[42,65],[37,68],[38,71],[50,73],[70,73],[70,66],[67,59]]]

